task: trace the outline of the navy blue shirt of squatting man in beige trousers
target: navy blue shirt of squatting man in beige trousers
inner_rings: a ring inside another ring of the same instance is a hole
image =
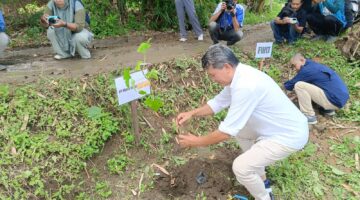
[[[349,99],[349,91],[341,78],[329,67],[307,59],[298,74],[285,82],[287,90],[293,90],[295,83],[304,81],[321,88],[327,99],[336,107],[344,107]]]

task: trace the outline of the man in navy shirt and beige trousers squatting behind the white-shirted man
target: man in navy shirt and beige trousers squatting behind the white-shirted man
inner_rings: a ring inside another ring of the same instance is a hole
[[[295,54],[290,60],[297,75],[284,83],[287,90],[295,90],[300,110],[308,118],[309,124],[316,124],[317,119],[311,102],[320,106],[325,115],[334,115],[337,109],[344,107],[349,99],[349,91],[339,75],[329,67],[305,59]]]

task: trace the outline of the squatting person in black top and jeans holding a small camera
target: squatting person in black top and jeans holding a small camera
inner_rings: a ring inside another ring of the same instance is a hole
[[[303,0],[291,0],[271,21],[275,43],[281,44],[284,39],[293,44],[304,33],[306,11],[302,8]]]

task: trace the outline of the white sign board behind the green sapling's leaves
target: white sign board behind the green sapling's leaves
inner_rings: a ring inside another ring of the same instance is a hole
[[[130,101],[140,99],[143,96],[150,94],[150,81],[146,79],[144,74],[148,70],[134,72],[130,74],[130,87],[126,87],[125,80],[123,77],[115,79],[116,93],[118,95],[119,105],[128,103]],[[131,85],[132,82],[134,85]],[[140,91],[145,91],[146,94],[140,94]]]

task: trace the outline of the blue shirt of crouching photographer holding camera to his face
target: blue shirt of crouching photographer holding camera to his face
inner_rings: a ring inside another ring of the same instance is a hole
[[[218,13],[221,10],[221,4],[222,3],[218,4],[213,15],[215,15],[216,13]],[[236,15],[236,19],[238,20],[240,27],[242,27],[245,12],[244,12],[244,7],[242,7],[240,4],[236,4],[235,15]],[[224,11],[224,13],[220,16],[220,19],[218,19],[218,23],[219,23],[221,29],[234,28],[234,25],[232,24],[232,17],[231,17],[230,12]]]

